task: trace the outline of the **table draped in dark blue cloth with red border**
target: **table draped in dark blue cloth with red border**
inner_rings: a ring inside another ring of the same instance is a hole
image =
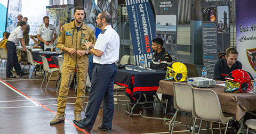
[[[134,100],[134,95],[139,95],[137,103],[135,103],[132,107],[131,116],[132,111],[137,104],[153,103],[139,102],[141,94],[154,94],[157,96],[156,91],[159,87],[159,81],[165,78],[165,74],[166,71],[163,70],[156,70],[156,72],[137,72],[125,69],[117,69],[115,83],[117,85],[126,87],[125,95]],[[157,100],[154,102],[160,102],[164,109],[164,106],[159,98],[156,97],[156,99]]]

